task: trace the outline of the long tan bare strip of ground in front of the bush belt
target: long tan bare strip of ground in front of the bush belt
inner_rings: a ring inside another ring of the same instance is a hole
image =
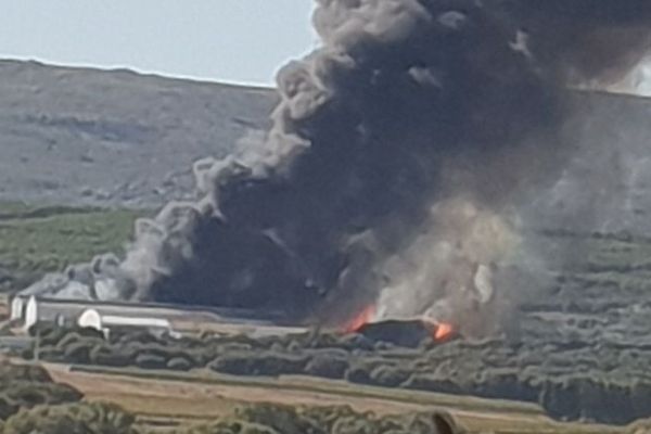
[[[65,366],[49,365],[55,381],[73,385],[89,400],[113,401],[136,413],[154,418],[205,420],[230,413],[242,403],[281,403],[288,405],[331,406],[349,405],[358,411],[400,413],[409,411],[449,410],[471,432],[496,430],[496,433],[621,433],[617,429],[589,425],[560,425],[542,414],[487,412],[482,410],[443,408],[417,401],[385,397],[355,396],[306,387],[292,388],[288,382],[282,387],[219,382],[189,382],[177,380],[149,380],[129,374],[69,371]],[[310,381],[306,382],[309,386]],[[316,382],[314,383],[317,384]],[[328,384],[320,382],[319,384]],[[475,431],[476,430],[476,431]]]

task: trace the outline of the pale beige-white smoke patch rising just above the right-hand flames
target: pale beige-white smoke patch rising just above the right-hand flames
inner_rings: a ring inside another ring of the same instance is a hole
[[[496,292],[506,292],[494,288],[494,273],[516,261],[515,225],[467,199],[434,205],[425,231],[383,266],[379,318],[422,316],[472,328]]]

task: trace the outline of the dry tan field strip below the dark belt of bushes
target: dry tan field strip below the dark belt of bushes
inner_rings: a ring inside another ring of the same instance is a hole
[[[400,413],[445,409],[470,433],[607,434],[630,430],[604,425],[564,424],[533,405],[424,392],[359,386],[340,381],[288,376],[250,379],[193,372],[137,369],[71,370],[48,365],[52,376],[81,391],[89,400],[116,403],[148,425],[169,426],[226,416],[243,403],[349,405],[356,410]]]

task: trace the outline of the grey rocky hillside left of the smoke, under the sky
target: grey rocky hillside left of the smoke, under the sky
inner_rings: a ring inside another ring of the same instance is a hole
[[[0,201],[158,206],[265,129],[270,89],[0,61]]]

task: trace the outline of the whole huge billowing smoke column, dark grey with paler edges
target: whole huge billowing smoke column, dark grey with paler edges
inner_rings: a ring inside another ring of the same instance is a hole
[[[540,268],[519,206],[571,152],[566,88],[637,64],[650,17],[637,0],[319,0],[322,47],[279,73],[271,130],[197,162],[200,200],[139,221],[85,281],[297,321],[371,303],[477,317]]]

